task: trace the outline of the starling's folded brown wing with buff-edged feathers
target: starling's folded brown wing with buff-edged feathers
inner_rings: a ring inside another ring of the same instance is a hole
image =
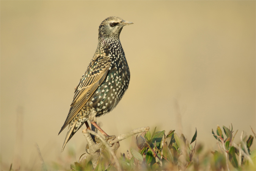
[[[101,54],[92,59],[85,74],[80,79],[79,85],[75,89],[75,95],[70,106],[68,117],[61,127],[60,132],[63,131],[63,129],[73,120],[75,115],[80,112],[88,99],[90,99],[91,95],[93,95],[96,89],[101,85],[102,81],[104,81],[110,65],[110,58],[105,56],[105,54]]]

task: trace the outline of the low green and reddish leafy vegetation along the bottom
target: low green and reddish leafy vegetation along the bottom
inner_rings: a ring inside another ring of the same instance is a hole
[[[136,148],[130,148],[113,160],[110,152],[104,149],[96,168],[93,169],[89,158],[80,159],[71,164],[71,170],[256,170],[256,151],[251,151],[254,137],[240,136],[240,143],[234,143],[236,132],[223,126],[217,126],[216,134],[212,129],[213,140],[218,149],[203,152],[203,145],[196,144],[197,131],[192,140],[175,130],[168,132],[144,132],[136,137]],[[89,156],[88,156],[89,157]]]

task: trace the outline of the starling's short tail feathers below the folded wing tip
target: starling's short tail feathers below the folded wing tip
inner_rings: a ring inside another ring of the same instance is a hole
[[[63,150],[66,146],[66,143],[68,143],[68,141],[71,139],[71,137],[73,137],[75,132],[77,132],[80,127],[82,127],[83,123],[85,123],[85,121],[81,122],[79,120],[74,120],[74,119],[70,122],[69,127],[68,127],[68,132],[67,132],[66,138],[64,140],[61,152],[63,152]]]

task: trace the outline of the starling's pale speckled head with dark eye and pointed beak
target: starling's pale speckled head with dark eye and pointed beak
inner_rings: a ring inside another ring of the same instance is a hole
[[[133,24],[132,22],[125,21],[119,17],[108,17],[99,26],[100,37],[113,37],[119,38],[123,26]]]

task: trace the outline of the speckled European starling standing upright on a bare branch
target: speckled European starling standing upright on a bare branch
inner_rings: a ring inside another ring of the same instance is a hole
[[[99,26],[96,52],[75,88],[68,117],[60,130],[63,131],[69,124],[61,152],[75,132],[85,122],[87,124],[89,116],[96,113],[96,117],[100,117],[110,112],[126,92],[130,70],[119,35],[123,26],[130,24],[133,23],[113,16],[105,19]]]

